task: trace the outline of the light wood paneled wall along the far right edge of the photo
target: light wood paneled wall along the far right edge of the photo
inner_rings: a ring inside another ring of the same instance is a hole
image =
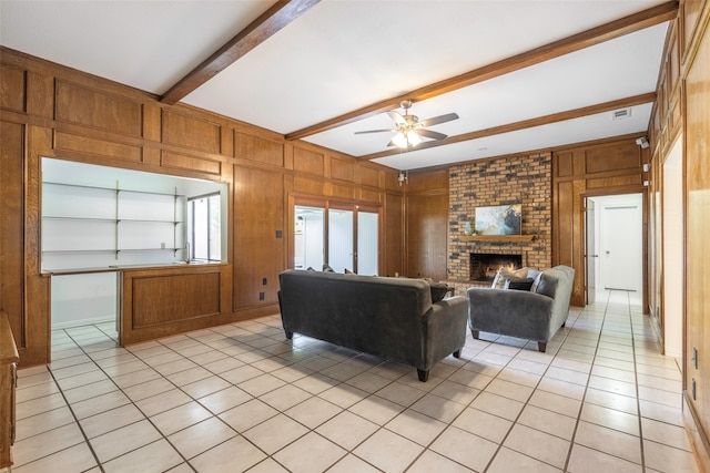
[[[679,63],[680,80],[678,85],[672,79],[659,84],[659,89],[669,90],[670,96],[667,106],[660,104],[656,110],[655,123],[659,126],[655,134],[659,140],[652,143],[653,160],[662,163],[674,137],[683,135],[683,413],[701,467],[710,471],[710,2],[681,2],[674,27],[678,40],[666,58]],[[673,103],[681,110],[678,121],[668,112]]]

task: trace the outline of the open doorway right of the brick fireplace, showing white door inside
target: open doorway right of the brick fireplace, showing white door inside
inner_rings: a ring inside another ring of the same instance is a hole
[[[587,302],[606,290],[625,290],[639,304],[643,294],[642,194],[587,197]]]

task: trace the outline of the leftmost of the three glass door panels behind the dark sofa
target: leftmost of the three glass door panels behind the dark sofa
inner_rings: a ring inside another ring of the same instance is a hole
[[[323,268],[325,256],[325,209],[296,205],[294,207],[294,268]]]

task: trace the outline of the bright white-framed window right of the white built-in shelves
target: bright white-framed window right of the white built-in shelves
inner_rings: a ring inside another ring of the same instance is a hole
[[[190,212],[190,259],[220,263],[222,241],[220,228],[220,194],[203,195],[187,200]]]

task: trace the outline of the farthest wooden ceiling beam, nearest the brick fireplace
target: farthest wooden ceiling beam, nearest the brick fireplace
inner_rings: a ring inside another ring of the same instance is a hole
[[[534,126],[541,126],[550,123],[564,122],[566,120],[595,115],[597,113],[611,112],[615,110],[626,109],[628,106],[640,105],[643,103],[650,103],[655,101],[656,101],[656,92],[650,92],[641,95],[633,95],[630,97],[613,100],[610,102],[599,103],[596,105],[567,110],[565,112],[552,113],[550,115],[538,116],[530,120],[523,120],[520,122],[507,123],[505,125],[493,126],[490,128],[477,130],[470,133],[448,136],[444,140],[427,141],[418,144],[415,150],[426,150],[430,147],[444,146],[447,144],[460,143],[460,142],[470,141],[470,140],[478,140],[486,136],[499,135],[503,133],[517,132],[525,128],[531,128]],[[398,147],[393,147],[392,150],[358,156],[356,160],[369,161],[369,160],[375,160],[377,157],[395,156],[395,155],[398,155],[399,153],[400,153],[400,150]]]

